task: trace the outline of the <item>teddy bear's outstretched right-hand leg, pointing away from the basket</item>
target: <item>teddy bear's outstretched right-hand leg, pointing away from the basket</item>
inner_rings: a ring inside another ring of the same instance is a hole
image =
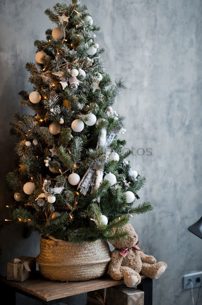
[[[164,262],[158,262],[150,265],[147,263],[142,264],[141,274],[148,276],[149,278],[159,278],[159,276],[166,270],[167,264]]]

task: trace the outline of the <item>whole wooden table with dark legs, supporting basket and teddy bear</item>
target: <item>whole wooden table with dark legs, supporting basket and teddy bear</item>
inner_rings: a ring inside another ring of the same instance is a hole
[[[141,283],[137,289],[144,291],[144,304],[152,305],[152,279],[141,276]],[[15,292],[29,296],[43,304],[59,305],[63,298],[74,296],[83,292],[94,291],[102,288],[123,284],[123,281],[114,281],[108,275],[84,282],[56,282],[42,277],[38,272],[24,282],[1,280],[1,295],[6,297],[6,303],[15,305]],[[124,304],[123,304],[124,305]]]

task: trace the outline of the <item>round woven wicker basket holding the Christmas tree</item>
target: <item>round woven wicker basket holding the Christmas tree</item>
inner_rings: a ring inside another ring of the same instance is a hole
[[[110,259],[107,242],[97,240],[73,245],[50,237],[41,238],[36,262],[45,278],[66,282],[99,278],[107,272]]]

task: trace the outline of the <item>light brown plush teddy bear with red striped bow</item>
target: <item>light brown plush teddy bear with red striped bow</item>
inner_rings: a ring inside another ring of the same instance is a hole
[[[109,274],[114,280],[124,279],[128,287],[141,282],[140,274],[149,278],[159,278],[166,270],[167,264],[156,263],[156,258],[146,255],[139,249],[138,235],[131,224],[125,224],[120,231],[128,231],[128,238],[119,242],[110,241],[115,249],[111,253]],[[116,231],[115,231],[116,232]]]

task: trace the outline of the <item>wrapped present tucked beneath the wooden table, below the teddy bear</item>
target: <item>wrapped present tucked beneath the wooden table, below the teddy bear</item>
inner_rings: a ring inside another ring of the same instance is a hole
[[[88,292],[88,305],[144,305],[144,292],[126,285]]]

